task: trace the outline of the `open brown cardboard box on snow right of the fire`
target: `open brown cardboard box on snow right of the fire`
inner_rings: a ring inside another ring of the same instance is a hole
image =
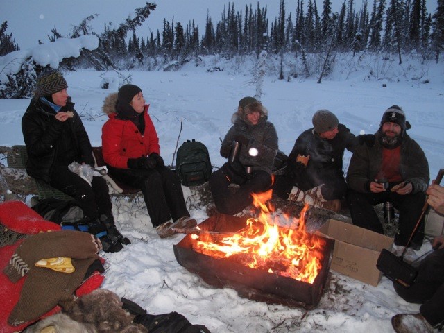
[[[391,249],[393,238],[333,219],[316,233],[335,240],[330,269],[377,286],[382,278],[376,268],[377,258],[383,248]]]

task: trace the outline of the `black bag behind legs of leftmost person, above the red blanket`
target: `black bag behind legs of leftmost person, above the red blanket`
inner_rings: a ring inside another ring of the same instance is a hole
[[[74,229],[87,231],[82,208],[77,201],[60,200],[58,198],[46,198],[31,207],[35,212],[40,214],[46,221],[52,221],[65,227],[63,229]],[[71,226],[71,228],[69,228]],[[78,228],[76,228],[76,226]]]

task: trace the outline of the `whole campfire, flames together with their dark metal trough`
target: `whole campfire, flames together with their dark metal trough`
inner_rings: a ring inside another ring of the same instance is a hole
[[[178,263],[208,284],[231,287],[240,296],[317,305],[334,241],[305,231],[308,206],[296,218],[273,214],[267,205],[271,191],[253,197],[260,210],[257,219],[211,216],[174,246]]]

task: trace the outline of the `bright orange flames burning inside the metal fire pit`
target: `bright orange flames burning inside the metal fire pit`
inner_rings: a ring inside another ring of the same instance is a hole
[[[253,205],[260,208],[257,219],[248,219],[246,227],[234,234],[194,234],[194,250],[216,258],[232,257],[250,268],[258,268],[299,281],[313,283],[322,268],[325,241],[305,232],[305,212],[300,218],[284,215],[290,228],[278,226],[282,216],[273,218],[274,207],[266,202],[272,191],[253,194]]]

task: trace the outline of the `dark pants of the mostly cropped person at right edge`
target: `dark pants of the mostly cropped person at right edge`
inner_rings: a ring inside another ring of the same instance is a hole
[[[431,325],[444,321],[444,249],[425,257],[418,277],[409,288],[393,284],[396,293],[407,302],[422,304],[420,313]]]

